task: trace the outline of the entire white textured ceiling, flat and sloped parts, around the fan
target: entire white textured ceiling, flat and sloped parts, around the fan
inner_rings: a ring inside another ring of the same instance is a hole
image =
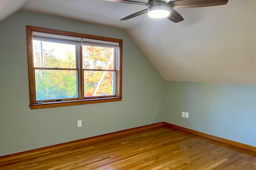
[[[164,80],[256,85],[256,0],[175,9],[184,18],[179,23],[146,14],[119,21],[145,9],[143,5],[104,0],[25,1],[0,0],[4,4],[0,5],[0,20],[21,8],[124,28]]]

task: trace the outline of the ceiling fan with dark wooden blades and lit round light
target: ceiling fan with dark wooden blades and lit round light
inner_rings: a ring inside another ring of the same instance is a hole
[[[128,20],[148,12],[148,16],[151,18],[167,18],[173,22],[183,21],[184,18],[172,8],[196,8],[196,7],[206,7],[206,6],[218,6],[225,5],[228,3],[228,0],[148,0],[148,3],[145,2],[136,2],[131,0],[105,0],[111,2],[122,2],[128,4],[138,4],[138,5],[147,5],[148,8],[129,16],[126,16],[120,20]]]

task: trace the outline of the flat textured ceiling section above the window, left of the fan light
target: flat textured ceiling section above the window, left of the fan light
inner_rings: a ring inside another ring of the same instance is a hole
[[[145,2],[145,0],[138,0]],[[121,18],[147,8],[144,5],[108,2],[104,0],[27,0],[24,10],[64,16],[76,20],[129,28],[147,20],[119,21]]]

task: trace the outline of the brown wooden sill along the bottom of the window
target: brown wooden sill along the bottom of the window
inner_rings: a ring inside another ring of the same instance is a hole
[[[75,106],[82,104],[94,104],[94,103],[105,103],[105,102],[118,102],[121,101],[122,98],[97,98],[97,99],[87,99],[87,100],[72,100],[72,101],[62,101],[62,102],[48,102],[42,104],[30,104],[30,109],[42,109],[42,108],[55,108],[55,107],[63,107],[63,106]]]

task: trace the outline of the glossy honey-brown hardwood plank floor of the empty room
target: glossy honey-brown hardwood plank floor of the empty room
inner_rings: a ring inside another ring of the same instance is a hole
[[[256,152],[168,127],[104,140],[3,156],[0,170],[256,170]]]

